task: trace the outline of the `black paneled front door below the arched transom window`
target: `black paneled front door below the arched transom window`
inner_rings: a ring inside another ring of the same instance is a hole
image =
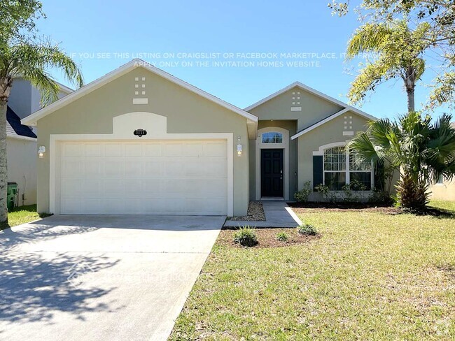
[[[261,196],[283,198],[283,150],[260,150]]]

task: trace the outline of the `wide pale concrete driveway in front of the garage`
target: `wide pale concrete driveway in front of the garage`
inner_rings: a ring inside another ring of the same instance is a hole
[[[224,220],[55,216],[0,231],[0,339],[166,340]]]

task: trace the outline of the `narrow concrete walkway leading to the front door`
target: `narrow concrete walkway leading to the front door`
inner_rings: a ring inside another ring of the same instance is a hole
[[[225,227],[239,227],[244,225],[255,227],[297,227],[302,225],[300,219],[283,200],[264,200],[265,222],[243,222],[238,220],[227,220]]]

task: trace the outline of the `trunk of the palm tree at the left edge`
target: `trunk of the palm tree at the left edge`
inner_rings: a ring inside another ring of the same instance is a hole
[[[6,194],[8,189],[8,164],[6,159],[6,101],[0,100],[0,222],[8,221]]]

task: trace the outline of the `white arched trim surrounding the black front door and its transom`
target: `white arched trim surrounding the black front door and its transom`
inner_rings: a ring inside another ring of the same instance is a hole
[[[262,133],[269,133],[276,131],[276,133],[283,134],[282,143],[262,143]],[[278,126],[267,126],[258,130],[258,138],[256,138],[255,150],[255,183],[256,183],[256,200],[261,199],[261,177],[260,177],[260,150],[262,149],[282,149],[283,150],[283,199],[289,200],[289,131]]]

